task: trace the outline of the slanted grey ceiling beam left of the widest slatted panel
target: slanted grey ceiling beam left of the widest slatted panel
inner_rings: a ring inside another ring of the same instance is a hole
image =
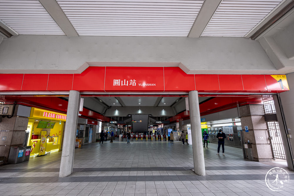
[[[76,37],[78,33],[72,26],[69,19],[64,14],[63,10],[56,0],[39,0],[43,7],[48,11],[50,16],[55,20],[61,30],[69,37]]]

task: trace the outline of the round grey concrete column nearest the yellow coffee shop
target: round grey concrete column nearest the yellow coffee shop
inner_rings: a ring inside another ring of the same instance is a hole
[[[78,91],[69,91],[59,177],[66,177],[73,170],[79,103],[80,93]]]

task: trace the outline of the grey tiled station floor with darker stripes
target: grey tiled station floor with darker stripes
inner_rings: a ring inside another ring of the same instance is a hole
[[[59,178],[61,152],[0,168],[0,195],[293,195],[290,180],[281,192],[264,179],[286,162],[243,160],[242,149],[204,148],[206,176],[195,175],[191,145],[180,142],[93,143],[75,150],[74,172]],[[290,179],[294,172],[288,171]]]

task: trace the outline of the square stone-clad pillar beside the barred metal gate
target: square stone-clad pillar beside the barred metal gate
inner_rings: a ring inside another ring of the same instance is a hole
[[[255,161],[272,161],[273,153],[270,145],[268,126],[264,119],[264,109],[262,104],[244,105],[239,108],[242,129],[248,126],[248,132],[243,131],[244,141],[251,143],[252,158]],[[245,151],[246,157],[248,150]]]

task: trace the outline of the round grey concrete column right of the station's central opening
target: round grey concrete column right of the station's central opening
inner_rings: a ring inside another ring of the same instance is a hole
[[[191,120],[191,135],[193,143],[192,148],[194,159],[194,171],[197,175],[205,175],[198,91],[189,92],[189,107]]]

